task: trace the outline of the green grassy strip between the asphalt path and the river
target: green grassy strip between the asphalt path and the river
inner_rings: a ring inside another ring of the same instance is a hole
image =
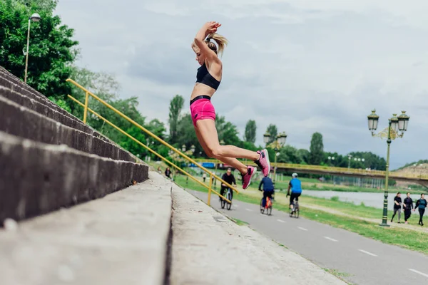
[[[208,192],[205,187],[189,180],[186,183],[185,177],[178,175],[175,182],[180,186]],[[260,204],[261,192],[250,187],[248,190],[241,190],[239,195],[234,195],[234,199],[252,204]],[[215,197],[213,195],[212,197]],[[411,249],[428,255],[428,234],[422,227],[416,227],[417,214],[412,212],[409,220],[410,224],[392,224],[393,227],[379,227],[379,217],[382,217],[382,210],[365,205],[355,205],[347,202],[340,202],[335,199],[322,199],[304,196],[300,199],[302,217],[312,219],[332,227],[347,229],[350,232],[361,234],[371,239],[379,240],[386,244],[393,244],[405,249]],[[288,212],[288,203],[285,194],[275,193],[275,209]],[[329,210],[327,212],[327,210]],[[332,212],[334,211],[334,212]],[[390,212],[389,212],[390,213]],[[390,215],[389,215],[390,217]],[[400,227],[397,227],[400,225]]]

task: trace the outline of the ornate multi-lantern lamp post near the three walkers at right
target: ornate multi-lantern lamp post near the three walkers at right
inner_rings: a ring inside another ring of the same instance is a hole
[[[389,177],[389,146],[391,145],[392,140],[396,138],[402,138],[404,132],[407,130],[409,125],[409,116],[405,111],[402,111],[402,114],[397,117],[397,114],[393,114],[392,118],[388,119],[388,127],[382,130],[377,134],[374,131],[377,129],[377,123],[379,123],[379,116],[376,115],[376,110],[372,110],[372,113],[367,116],[369,123],[369,130],[372,132],[372,136],[377,136],[379,138],[387,138],[387,169],[385,172],[385,192],[384,192],[384,207],[383,207],[383,216],[382,224],[379,224],[382,227],[389,227],[387,224],[388,219],[388,177]],[[399,134],[399,131],[401,132]]]

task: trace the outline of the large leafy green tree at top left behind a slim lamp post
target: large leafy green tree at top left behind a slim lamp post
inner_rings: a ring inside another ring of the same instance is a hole
[[[0,66],[24,80],[29,16],[39,13],[41,21],[31,23],[27,83],[48,97],[65,100],[78,42],[72,40],[73,29],[54,16],[56,4],[54,0],[0,1]]]

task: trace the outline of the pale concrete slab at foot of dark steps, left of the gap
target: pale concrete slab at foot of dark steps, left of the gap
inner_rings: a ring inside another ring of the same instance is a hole
[[[0,229],[1,285],[161,285],[171,183],[146,182]]]

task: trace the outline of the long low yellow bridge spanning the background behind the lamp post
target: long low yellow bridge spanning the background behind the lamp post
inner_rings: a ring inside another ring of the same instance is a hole
[[[223,165],[223,162],[220,160],[212,159],[197,159],[199,163],[210,163],[213,167],[215,165],[220,165],[220,167],[228,167],[228,165]],[[252,161],[243,161],[245,165],[256,166]],[[345,168],[345,167],[330,167],[323,165],[297,165],[292,163],[270,163],[271,167],[277,167],[277,170],[283,170],[287,172],[300,172],[300,173],[310,173],[318,175],[339,175],[347,177],[364,177],[364,178],[377,178],[384,179],[386,172],[382,170],[363,170],[356,168]],[[412,174],[402,174],[394,171],[389,172],[389,179],[397,181],[412,182],[428,187],[428,175],[412,175]]]

